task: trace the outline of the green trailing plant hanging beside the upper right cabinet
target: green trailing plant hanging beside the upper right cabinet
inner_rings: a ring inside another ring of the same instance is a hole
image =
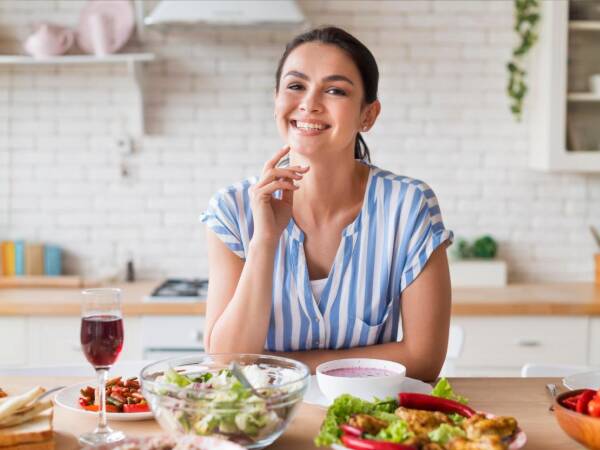
[[[523,60],[538,39],[537,24],[540,20],[540,4],[539,0],[514,0],[514,5],[514,30],[519,35],[520,41],[513,48],[512,58],[506,65],[509,75],[506,90],[511,99],[510,110],[520,121],[523,113],[523,100],[528,90],[525,83],[527,72],[523,68]]]

